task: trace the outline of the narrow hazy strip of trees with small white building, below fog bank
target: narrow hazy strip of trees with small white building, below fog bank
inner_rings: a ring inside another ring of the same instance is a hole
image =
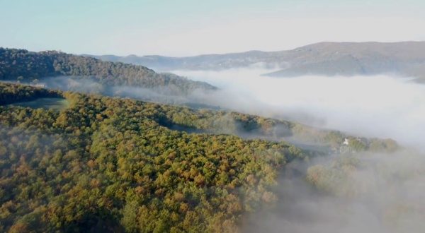
[[[239,112],[191,109],[188,107],[157,104],[164,112],[161,119],[170,129],[188,132],[226,133],[242,138],[261,138],[266,141],[291,141],[302,145],[322,145],[329,153],[397,150],[394,140],[349,136],[340,131],[317,129],[293,121],[270,119]]]

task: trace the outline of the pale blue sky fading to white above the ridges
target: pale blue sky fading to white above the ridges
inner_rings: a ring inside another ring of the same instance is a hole
[[[0,47],[191,56],[425,40],[423,0],[0,0]]]

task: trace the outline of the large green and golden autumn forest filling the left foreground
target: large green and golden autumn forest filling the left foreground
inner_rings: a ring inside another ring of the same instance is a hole
[[[306,156],[167,128],[184,108],[57,93],[71,107],[0,107],[0,232],[237,232],[242,215],[276,201],[280,168]]]

